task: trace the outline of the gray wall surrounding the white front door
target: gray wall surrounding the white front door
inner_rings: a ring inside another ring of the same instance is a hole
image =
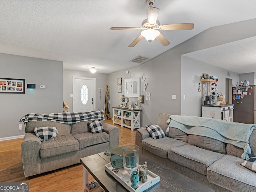
[[[73,112],[73,98],[70,97],[70,94],[73,94],[73,77],[96,78],[96,97],[95,97],[96,109],[104,110],[108,74],[64,69],[63,70],[63,83],[64,83],[63,99],[67,104],[69,104],[68,112]],[[98,88],[102,88],[101,99],[100,99],[100,89]]]

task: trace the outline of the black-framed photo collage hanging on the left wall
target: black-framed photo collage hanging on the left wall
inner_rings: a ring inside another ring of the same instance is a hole
[[[0,78],[0,93],[25,93],[25,80]]]

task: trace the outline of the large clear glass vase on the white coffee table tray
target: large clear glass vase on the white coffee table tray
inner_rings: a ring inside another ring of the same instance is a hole
[[[124,170],[126,170],[129,174],[130,174],[130,172],[138,169],[139,148],[140,147],[137,145],[123,146]]]

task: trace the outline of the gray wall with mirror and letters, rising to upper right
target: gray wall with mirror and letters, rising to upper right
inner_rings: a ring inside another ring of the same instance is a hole
[[[183,54],[255,36],[256,28],[252,24],[256,25],[256,19],[210,28],[138,67],[128,68],[127,70],[131,74],[135,74],[134,77],[146,74],[145,82],[141,82],[140,93],[145,96],[145,92],[142,92],[143,83],[148,83],[146,92],[151,93],[151,100],[145,101],[141,107],[142,126],[156,124],[160,112],[181,114],[181,93],[188,95],[182,92],[188,88],[187,84],[181,84],[183,76],[181,58]],[[241,28],[241,26],[243,27]],[[121,70],[109,74],[108,82],[112,86],[111,106],[120,104],[119,96],[122,95],[117,93],[117,78],[133,78],[133,76],[128,76],[125,71]],[[196,74],[192,74],[193,80],[195,80],[194,76],[198,76],[202,72],[200,70]],[[216,74],[216,76],[219,75]],[[225,78],[222,82],[225,85]],[[196,84],[196,82],[194,83]],[[176,95],[176,100],[172,100],[172,95]],[[186,107],[186,105],[183,105],[182,111],[186,110]],[[188,110],[191,110],[191,108],[188,107]],[[199,114],[199,112],[198,108],[195,114]]]

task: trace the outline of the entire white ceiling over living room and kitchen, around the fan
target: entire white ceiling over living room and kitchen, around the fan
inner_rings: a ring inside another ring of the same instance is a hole
[[[129,48],[141,31],[110,27],[140,27],[147,18],[146,0],[1,0],[0,52],[63,61],[65,69],[95,66],[108,74],[137,66],[129,60],[154,58],[210,27],[256,18],[255,0],[156,0],[154,6],[160,24],[193,22],[194,29],[161,31],[170,42],[166,47],[143,38]],[[250,38],[187,56],[238,73],[250,65],[256,72],[255,45]]]

